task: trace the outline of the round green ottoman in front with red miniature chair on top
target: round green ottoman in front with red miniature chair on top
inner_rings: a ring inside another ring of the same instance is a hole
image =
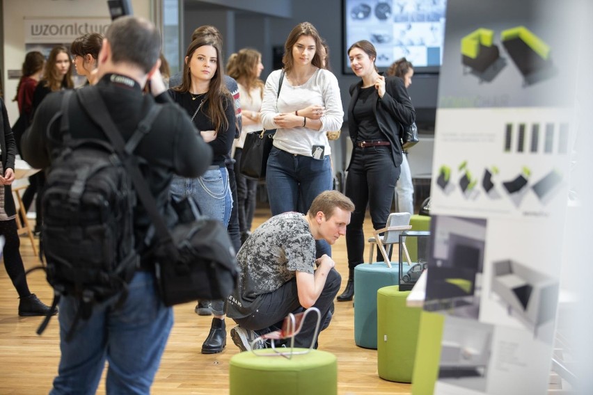
[[[258,353],[273,354],[274,350],[258,350]],[[320,350],[293,355],[290,360],[280,355],[262,357],[244,351],[230,358],[229,380],[230,395],[338,394],[338,359]]]

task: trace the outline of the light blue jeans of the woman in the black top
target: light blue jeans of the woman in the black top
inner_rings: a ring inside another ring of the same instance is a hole
[[[189,198],[196,216],[200,214],[213,220],[219,220],[228,226],[232,196],[228,182],[228,171],[225,167],[210,166],[198,178],[173,176],[171,196],[176,201]]]

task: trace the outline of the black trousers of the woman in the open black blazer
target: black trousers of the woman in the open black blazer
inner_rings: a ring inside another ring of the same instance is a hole
[[[364,262],[363,222],[367,205],[373,228],[385,227],[393,202],[395,182],[400,178],[400,168],[393,165],[390,147],[355,147],[354,150],[346,178],[346,196],[355,206],[350,224],[346,227],[348,268],[351,269]],[[377,260],[382,261],[383,258],[379,257],[377,251]]]

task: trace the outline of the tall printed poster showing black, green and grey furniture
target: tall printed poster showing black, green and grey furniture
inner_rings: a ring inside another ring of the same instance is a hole
[[[445,314],[434,394],[547,392],[574,143],[563,13],[447,3],[424,303]]]

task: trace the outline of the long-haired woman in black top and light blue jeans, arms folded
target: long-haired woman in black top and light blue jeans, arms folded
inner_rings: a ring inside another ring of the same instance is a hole
[[[235,138],[235,106],[224,83],[222,51],[217,40],[198,37],[187,48],[180,86],[168,92],[187,111],[200,135],[212,148],[212,163],[196,179],[173,177],[171,196],[188,198],[194,213],[228,226],[232,197],[226,159]],[[201,300],[204,305],[207,301]],[[212,328],[202,346],[203,354],[220,353],[226,346],[224,301],[212,300]],[[198,307],[199,308],[199,307]]]

